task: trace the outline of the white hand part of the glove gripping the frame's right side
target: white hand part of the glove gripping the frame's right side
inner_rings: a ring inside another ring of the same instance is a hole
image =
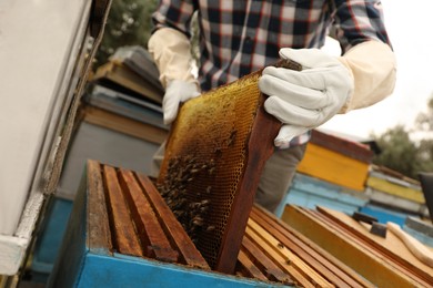
[[[353,94],[354,80],[336,58],[319,49],[283,48],[280,56],[298,62],[302,71],[268,66],[259,88],[269,95],[266,112],[283,123],[274,145],[285,148],[293,137],[339,113]]]

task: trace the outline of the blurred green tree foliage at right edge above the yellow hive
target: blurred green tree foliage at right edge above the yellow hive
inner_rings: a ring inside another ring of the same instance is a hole
[[[382,150],[382,153],[374,157],[374,164],[386,166],[412,178],[417,178],[420,172],[433,172],[433,140],[427,137],[416,142],[411,140],[413,133],[433,133],[433,94],[427,107],[426,113],[419,114],[414,130],[407,131],[397,125],[380,136],[373,135]]]

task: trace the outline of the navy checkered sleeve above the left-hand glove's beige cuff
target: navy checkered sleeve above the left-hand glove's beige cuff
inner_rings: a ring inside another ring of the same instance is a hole
[[[152,14],[154,30],[163,27],[173,28],[190,38],[190,23],[194,10],[192,0],[161,0]]]

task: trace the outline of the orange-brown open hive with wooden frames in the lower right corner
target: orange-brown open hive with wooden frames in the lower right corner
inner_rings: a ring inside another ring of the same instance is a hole
[[[385,237],[350,215],[286,206],[282,220],[376,287],[433,287],[433,268],[392,230]]]

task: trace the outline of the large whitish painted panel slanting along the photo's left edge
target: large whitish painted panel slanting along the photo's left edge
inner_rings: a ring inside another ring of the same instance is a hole
[[[14,235],[29,195],[37,192],[36,177],[41,176],[37,168],[48,155],[47,142],[53,142],[48,136],[59,124],[56,116],[73,69],[71,53],[77,51],[77,38],[87,16],[83,11],[90,3],[0,2],[0,235]],[[6,239],[9,244],[17,237]],[[19,238],[16,247],[27,240]],[[0,265],[4,263],[1,253]]]

